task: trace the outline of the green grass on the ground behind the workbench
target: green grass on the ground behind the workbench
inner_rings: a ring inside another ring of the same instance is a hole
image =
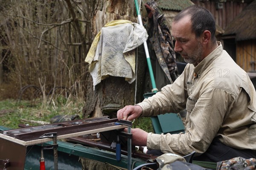
[[[59,97],[49,105],[38,102],[7,99],[0,101],[0,125],[10,129],[19,128],[19,124],[39,125],[31,122],[23,122],[22,119],[50,122],[57,115],[78,114],[82,118],[83,102],[74,99],[67,104],[67,100]],[[153,126],[149,117],[140,117],[133,123],[132,128],[141,128],[146,132],[153,132]]]

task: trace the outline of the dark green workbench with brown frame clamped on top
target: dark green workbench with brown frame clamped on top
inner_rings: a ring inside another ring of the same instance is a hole
[[[78,136],[122,130],[123,128],[127,127],[125,125],[115,124],[116,121],[117,119],[108,119],[108,116],[105,116],[102,118],[81,119],[34,127],[23,127],[12,130],[1,127],[1,163],[7,163],[7,170],[39,169],[41,147],[53,145],[51,137],[42,139],[40,139],[40,137],[44,136],[45,134],[57,133],[58,135],[56,136],[56,139],[58,144],[57,150],[59,169],[65,170],[68,166],[68,169],[77,169],[80,164],[78,162],[79,157],[105,162],[106,164],[116,167],[127,168],[128,156],[126,155],[122,154],[121,160],[117,161],[115,152],[102,150],[98,147],[89,147],[88,145],[82,144],[81,141],[80,143],[74,142],[74,139],[79,139]],[[70,142],[64,142],[64,139],[70,139],[68,140]],[[97,144],[98,146],[102,145],[101,143]],[[140,154],[143,153],[138,153],[137,155]],[[46,169],[53,169],[54,156],[52,150],[44,150],[44,155]],[[131,158],[132,167],[137,167],[140,164],[144,164],[147,162],[147,158],[150,159],[150,156],[145,156],[145,159],[135,158],[134,156],[136,157],[136,154],[133,154],[133,157]],[[3,165],[0,165],[0,168],[3,168]],[[81,169],[81,167],[79,169]]]

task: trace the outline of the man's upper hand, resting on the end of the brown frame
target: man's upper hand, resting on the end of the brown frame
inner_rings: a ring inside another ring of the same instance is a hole
[[[142,108],[139,105],[128,105],[117,111],[117,119],[133,120],[142,114]]]

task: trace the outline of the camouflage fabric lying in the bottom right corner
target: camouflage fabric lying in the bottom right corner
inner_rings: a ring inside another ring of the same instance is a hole
[[[226,161],[220,161],[217,163],[216,170],[255,170],[256,159],[244,159],[242,157],[236,157]]]

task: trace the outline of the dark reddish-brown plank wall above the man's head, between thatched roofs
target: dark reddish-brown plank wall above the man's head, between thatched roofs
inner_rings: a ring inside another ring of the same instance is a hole
[[[216,23],[225,29],[228,23],[232,21],[248,4],[252,1],[227,0],[223,3],[222,9],[216,9],[216,0],[192,0],[195,5],[207,8],[215,17]]]

